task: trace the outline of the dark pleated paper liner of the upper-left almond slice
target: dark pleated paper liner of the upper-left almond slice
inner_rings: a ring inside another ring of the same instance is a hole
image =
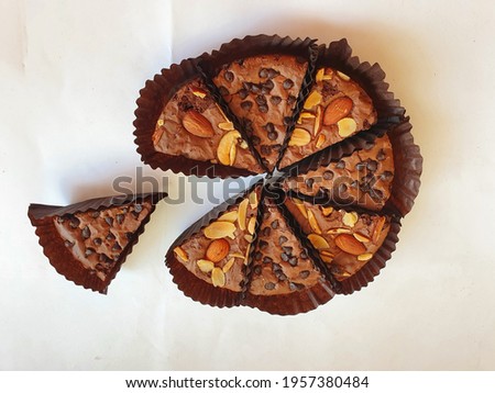
[[[173,156],[155,150],[152,137],[165,104],[187,81],[202,77],[201,71],[197,68],[197,61],[198,59],[185,59],[179,65],[173,64],[170,68],[162,69],[162,72],[155,75],[153,80],[147,80],[144,88],[140,90],[133,124],[135,127],[134,143],[138,145],[136,150],[141,155],[141,160],[153,169],[169,169],[174,173],[186,176],[237,178],[255,175],[246,169],[200,161],[184,156]],[[209,83],[206,85],[209,86]],[[216,93],[212,92],[212,94],[218,100]]]

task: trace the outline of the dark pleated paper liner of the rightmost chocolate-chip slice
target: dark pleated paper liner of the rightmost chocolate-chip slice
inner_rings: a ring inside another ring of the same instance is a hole
[[[391,198],[385,203],[382,212],[388,215],[404,217],[413,209],[415,199],[419,193],[422,157],[419,146],[414,143],[411,128],[409,117],[406,117],[398,124],[391,124],[387,131],[394,154],[394,180],[392,182]],[[327,167],[330,162],[337,162],[341,158],[341,151],[338,149],[322,150],[299,161],[297,166],[284,168],[282,171],[283,176],[277,178],[276,182],[280,187],[279,182],[284,177],[293,175],[304,177],[308,171],[316,170],[319,167]],[[327,195],[309,196],[299,192],[296,195],[299,199],[316,203],[328,201]]]

